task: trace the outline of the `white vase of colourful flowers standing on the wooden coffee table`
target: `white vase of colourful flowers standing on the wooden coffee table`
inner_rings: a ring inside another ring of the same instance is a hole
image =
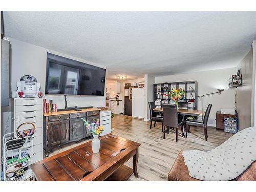
[[[90,131],[93,134],[93,140],[92,140],[92,151],[93,153],[98,153],[100,148],[100,140],[98,138],[98,135],[104,131],[103,126],[99,124],[99,119],[95,123],[89,123],[86,119],[81,118],[84,122],[84,125],[86,125],[86,128],[88,131]]]

